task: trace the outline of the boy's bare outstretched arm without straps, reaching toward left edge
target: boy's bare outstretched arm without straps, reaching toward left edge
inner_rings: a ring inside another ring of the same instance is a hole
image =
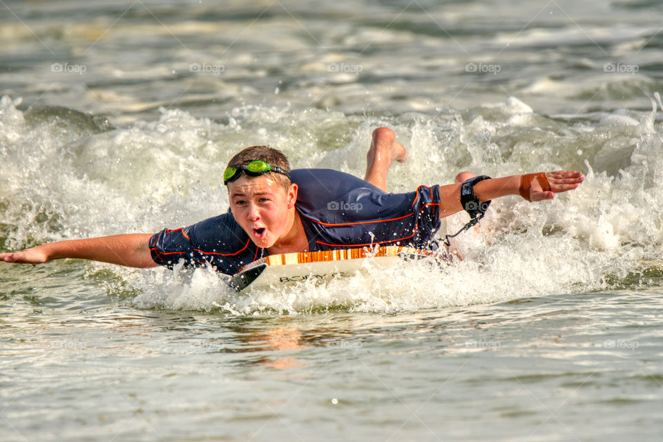
[[[150,253],[152,233],[102,236],[87,240],[49,242],[13,253],[0,253],[0,261],[40,264],[61,258],[77,258],[127,267],[156,267]]]

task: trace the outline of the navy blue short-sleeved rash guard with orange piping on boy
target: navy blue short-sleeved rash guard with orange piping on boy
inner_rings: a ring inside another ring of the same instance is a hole
[[[440,227],[439,186],[385,193],[353,175],[331,169],[296,169],[295,208],[309,251],[374,244],[424,249]],[[232,275],[269,253],[253,244],[230,211],[182,229],[164,229],[150,239],[152,259],[173,268],[213,265]]]

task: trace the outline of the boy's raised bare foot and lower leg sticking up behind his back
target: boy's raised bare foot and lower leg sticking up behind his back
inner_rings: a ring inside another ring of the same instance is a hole
[[[378,127],[373,131],[371,148],[366,154],[364,180],[387,191],[387,171],[392,161],[405,162],[407,152],[403,144],[396,142],[396,134],[390,128]]]

